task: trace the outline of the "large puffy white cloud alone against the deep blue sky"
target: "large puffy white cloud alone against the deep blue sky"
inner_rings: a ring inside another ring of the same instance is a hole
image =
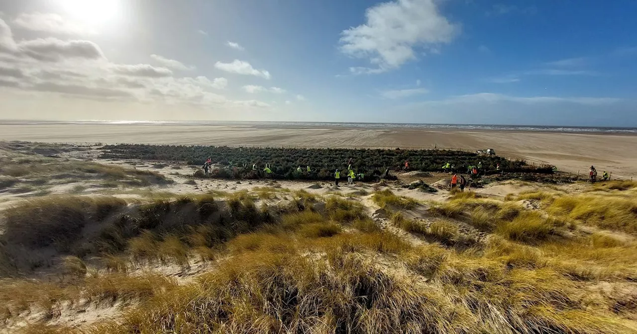
[[[365,13],[366,23],[341,32],[341,52],[369,59],[376,69],[352,67],[355,74],[381,73],[416,59],[415,48],[437,50],[459,32],[438,11],[435,0],[395,0]]]

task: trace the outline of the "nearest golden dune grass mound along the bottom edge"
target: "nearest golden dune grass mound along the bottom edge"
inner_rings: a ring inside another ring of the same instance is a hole
[[[86,331],[633,332],[613,312],[590,311],[577,285],[551,268],[508,268],[498,260],[437,246],[403,246],[392,249],[397,254],[392,262],[409,271],[394,271],[378,265],[384,255],[366,255],[377,249],[380,236],[328,239],[311,245],[326,256],[303,256],[304,249],[247,248],[196,282],[150,291],[143,307]]]

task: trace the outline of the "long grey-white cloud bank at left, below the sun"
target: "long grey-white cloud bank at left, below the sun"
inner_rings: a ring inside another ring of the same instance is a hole
[[[227,87],[225,78],[179,78],[166,67],[113,64],[91,41],[46,38],[15,43],[10,27],[1,19],[0,43],[0,87],[6,90],[225,110],[270,106],[257,100],[233,101],[212,92]]]

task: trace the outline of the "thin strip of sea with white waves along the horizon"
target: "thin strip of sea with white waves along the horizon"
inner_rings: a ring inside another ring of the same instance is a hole
[[[33,121],[0,120],[0,125],[55,125],[55,124],[111,124],[111,125],[180,125],[180,126],[233,126],[233,127],[286,127],[286,128],[364,128],[364,129],[450,129],[450,130],[507,130],[540,132],[591,132],[609,134],[637,134],[637,127],[577,127],[564,125],[501,125],[501,124],[429,124],[429,123],[350,123],[350,122],[227,122],[227,121],[128,121],[78,120]]]

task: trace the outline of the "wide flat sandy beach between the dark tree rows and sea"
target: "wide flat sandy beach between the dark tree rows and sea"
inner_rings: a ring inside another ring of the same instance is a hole
[[[637,177],[637,136],[503,130],[364,129],[271,125],[0,125],[0,141],[297,146],[308,148],[494,148],[497,153],[586,173],[590,165],[613,177]]]

